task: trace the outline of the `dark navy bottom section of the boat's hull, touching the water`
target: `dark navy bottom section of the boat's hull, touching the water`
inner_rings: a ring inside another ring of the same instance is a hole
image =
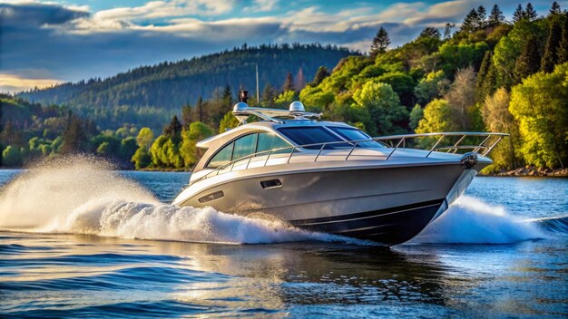
[[[416,237],[435,217],[444,198],[328,218],[296,219],[300,228],[376,241],[387,246]]]

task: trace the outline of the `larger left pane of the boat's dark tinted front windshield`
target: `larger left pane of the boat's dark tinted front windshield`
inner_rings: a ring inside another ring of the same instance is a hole
[[[282,134],[284,134],[290,140],[293,140],[298,145],[305,144],[317,144],[326,143],[330,141],[341,141],[341,138],[334,135],[330,131],[320,127],[320,126],[304,126],[304,127],[290,127],[290,128],[279,128]],[[348,143],[337,143],[326,146],[325,149],[334,149],[339,147],[349,146]],[[308,146],[306,149],[319,150],[320,145]]]

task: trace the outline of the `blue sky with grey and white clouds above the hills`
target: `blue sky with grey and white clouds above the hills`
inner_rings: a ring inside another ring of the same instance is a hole
[[[396,47],[427,26],[459,26],[467,11],[490,11],[495,2],[0,0],[0,92],[105,78],[243,43],[318,42],[366,52],[380,26]],[[519,3],[498,1],[507,18]],[[532,4],[547,14],[552,1]]]

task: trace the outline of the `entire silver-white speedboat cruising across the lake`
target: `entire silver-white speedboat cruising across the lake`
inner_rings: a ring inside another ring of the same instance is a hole
[[[444,213],[492,163],[487,154],[507,135],[371,138],[346,123],[319,121],[321,114],[305,111],[301,102],[279,110],[250,107],[245,100],[232,112],[240,125],[197,144],[204,154],[174,205],[277,218],[385,246],[416,237]],[[247,123],[250,116],[260,121]],[[416,138],[434,146],[406,146]],[[474,138],[483,141],[463,145]],[[444,140],[452,143],[444,148]]]

